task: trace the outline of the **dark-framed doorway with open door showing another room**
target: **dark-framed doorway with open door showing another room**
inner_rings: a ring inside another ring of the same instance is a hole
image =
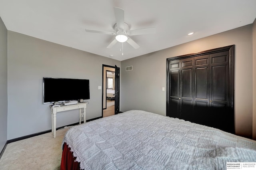
[[[102,117],[108,117],[108,116],[119,113],[118,95],[119,95],[119,68],[113,67],[110,65],[103,65],[102,66]]]

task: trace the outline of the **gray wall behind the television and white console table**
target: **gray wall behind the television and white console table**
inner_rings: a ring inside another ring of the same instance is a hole
[[[102,116],[102,64],[121,62],[8,31],[8,140],[51,129],[43,77],[90,79],[86,119]],[[57,127],[77,123],[78,113],[57,113]]]

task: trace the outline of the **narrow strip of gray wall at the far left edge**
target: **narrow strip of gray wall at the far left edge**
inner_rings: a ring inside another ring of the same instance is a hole
[[[0,152],[7,141],[7,30],[0,18]]]

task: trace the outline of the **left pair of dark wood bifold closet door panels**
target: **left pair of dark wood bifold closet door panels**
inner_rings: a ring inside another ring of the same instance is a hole
[[[192,117],[193,91],[193,58],[174,60],[169,63],[170,79],[170,112],[169,117],[190,120]]]

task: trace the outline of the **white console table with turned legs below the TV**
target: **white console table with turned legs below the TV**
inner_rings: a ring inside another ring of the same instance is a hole
[[[61,107],[52,107],[51,108],[51,114],[52,114],[52,134],[53,137],[56,138],[56,113],[62,112],[62,111],[70,111],[74,109],[79,109],[79,124],[81,124],[81,116],[84,112],[84,123],[86,123],[85,115],[86,115],[86,104],[87,103],[78,103],[76,105],[67,105],[67,106],[61,106]]]

